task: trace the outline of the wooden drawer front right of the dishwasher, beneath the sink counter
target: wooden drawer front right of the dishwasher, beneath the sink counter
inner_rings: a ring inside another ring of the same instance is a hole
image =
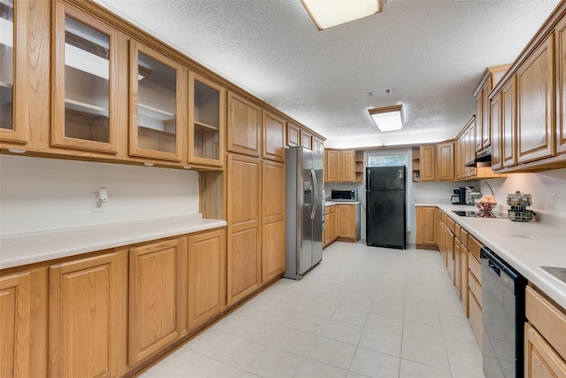
[[[547,342],[566,359],[566,314],[528,286],[525,290],[525,313],[527,320],[537,328]]]

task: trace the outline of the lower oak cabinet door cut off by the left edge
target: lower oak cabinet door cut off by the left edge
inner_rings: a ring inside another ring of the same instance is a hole
[[[29,274],[0,278],[0,376],[29,375]]]

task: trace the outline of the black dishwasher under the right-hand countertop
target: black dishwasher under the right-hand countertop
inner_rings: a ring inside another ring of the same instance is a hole
[[[486,247],[480,257],[484,374],[486,378],[523,378],[527,280]]]

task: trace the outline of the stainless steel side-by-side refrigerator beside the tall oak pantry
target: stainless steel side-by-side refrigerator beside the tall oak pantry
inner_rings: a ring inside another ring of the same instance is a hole
[[[323,157],[304,147],[286,154],[287,270],[283,277],[302,279],[322,260]]]

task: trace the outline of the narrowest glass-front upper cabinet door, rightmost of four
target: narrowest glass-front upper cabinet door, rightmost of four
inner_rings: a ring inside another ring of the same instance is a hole
[[[190,73],[188,162],[208,166],[224,164],[226,89]]]

